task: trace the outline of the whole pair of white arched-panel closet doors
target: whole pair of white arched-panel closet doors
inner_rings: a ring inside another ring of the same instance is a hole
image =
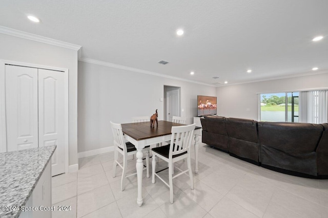
[[[57,145],[52,176],[65,172],[64,72],[6,65],[7,151]]]

